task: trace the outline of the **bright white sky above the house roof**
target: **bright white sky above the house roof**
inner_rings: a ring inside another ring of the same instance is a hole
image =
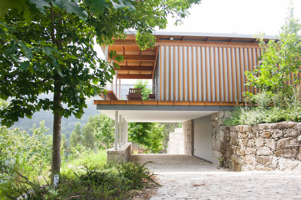
[[[284,24],[289,0],[202,0],[194,5],[182,25],[173,25],[175,20],[168,16],[167,28],[156,31],[255,34],[278,34]],[[294,2],[294,16],[301,19],[301,0]],[[99,46],[95,50],[102,57]],[[121,83],[133,83],[133,79]],[[151,83],[151,82],[150,82]]]

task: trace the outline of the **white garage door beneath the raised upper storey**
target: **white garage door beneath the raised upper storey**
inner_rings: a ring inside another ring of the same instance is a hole
[[[211,115],[193,120],[193,155],[212,163]]]

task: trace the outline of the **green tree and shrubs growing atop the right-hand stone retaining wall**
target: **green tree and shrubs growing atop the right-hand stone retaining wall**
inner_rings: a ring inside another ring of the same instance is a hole
[[[262,54],[259,65],[246,72],[247,86],[258,88],[257,94],[245,92],[247,106],[237,106],[226,126],[238,124],[301,121],[301,24],[293,16],[292,1],[278,41],[263,41],[257,35]]]

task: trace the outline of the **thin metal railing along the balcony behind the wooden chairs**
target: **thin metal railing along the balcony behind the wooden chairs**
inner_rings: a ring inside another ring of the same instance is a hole
[[[118,100],[128,100],[129,89],[130,88],[144,88],[141,89],[142,100],[148,100],[149,94],[156,94],[155,100],[158,100],[157,97],[157,85],[134,85],[134,84],[109,84],[106,85],[105,89],[112,92],[116,95]]]

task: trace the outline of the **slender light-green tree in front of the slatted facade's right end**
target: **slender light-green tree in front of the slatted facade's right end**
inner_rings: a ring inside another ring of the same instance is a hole
[[[290,1],[284,26],[281,27],[278,41],[269,40],[265,43],[263,34],[256,37],[259,40],[262,54],[259,65],[253,71],[246,71],[247,86],[254,86],[273,93],[285,92],[299,82],[296,76],[301,72],[301,35],[299,19],[294,18],[293,1]],[[290,74],[293,76],[290,76]],[[290,84],[291,82],[291,84]],[[251,95],[246,92],[247,95]]]

